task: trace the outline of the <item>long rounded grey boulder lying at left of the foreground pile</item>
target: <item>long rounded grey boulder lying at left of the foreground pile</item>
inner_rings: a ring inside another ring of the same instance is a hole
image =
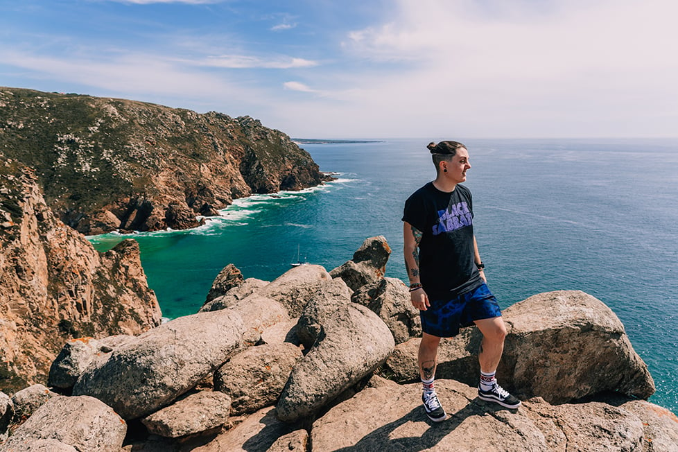
[[[112,351],[80,376],[75,395],[91,395],[125,419],[171,403],[241,347],[244,326],[229,309],[177,318]]]

